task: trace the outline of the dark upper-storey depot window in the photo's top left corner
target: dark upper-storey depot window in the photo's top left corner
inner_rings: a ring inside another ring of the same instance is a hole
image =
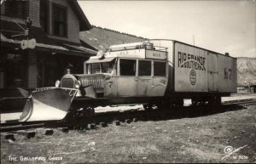
[[[8,0],[5,4],[5,15],[14,18],[26,19],[28,16],[29,1]]]

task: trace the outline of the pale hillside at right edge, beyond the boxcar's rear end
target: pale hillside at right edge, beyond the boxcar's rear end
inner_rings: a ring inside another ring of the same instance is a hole
[[[256,58],[237,58],[237,85],[256,85]]]

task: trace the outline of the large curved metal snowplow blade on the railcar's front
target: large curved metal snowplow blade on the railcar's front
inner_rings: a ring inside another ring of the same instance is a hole
[[[26,101],[20,122],[62,120],[76,93],[71,88],[38,88]]]

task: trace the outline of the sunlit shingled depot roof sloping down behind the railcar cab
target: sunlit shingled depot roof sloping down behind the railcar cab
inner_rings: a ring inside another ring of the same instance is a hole
[[[80,40],[87,48],[103,51],[111,45],[141,42],[148,39],[92,25],[89,31],[80,31]]]

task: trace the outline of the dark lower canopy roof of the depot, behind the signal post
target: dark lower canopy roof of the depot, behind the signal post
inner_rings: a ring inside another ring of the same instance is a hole
[[[24,24],[20,24],[25,28]],[[20,48],[21,40],[26,39],[24,36],[17,36],[22,32],[14,22],[1,20],[1,47],[10,46]],[[36,50],[48,51],[52,53],[71,54],[89,57],[96,55],[96,51],[90,48],[84,48],[80,43],[67,42],[49,38],[41,28],[32,26],[30,37],[36,39]]]

